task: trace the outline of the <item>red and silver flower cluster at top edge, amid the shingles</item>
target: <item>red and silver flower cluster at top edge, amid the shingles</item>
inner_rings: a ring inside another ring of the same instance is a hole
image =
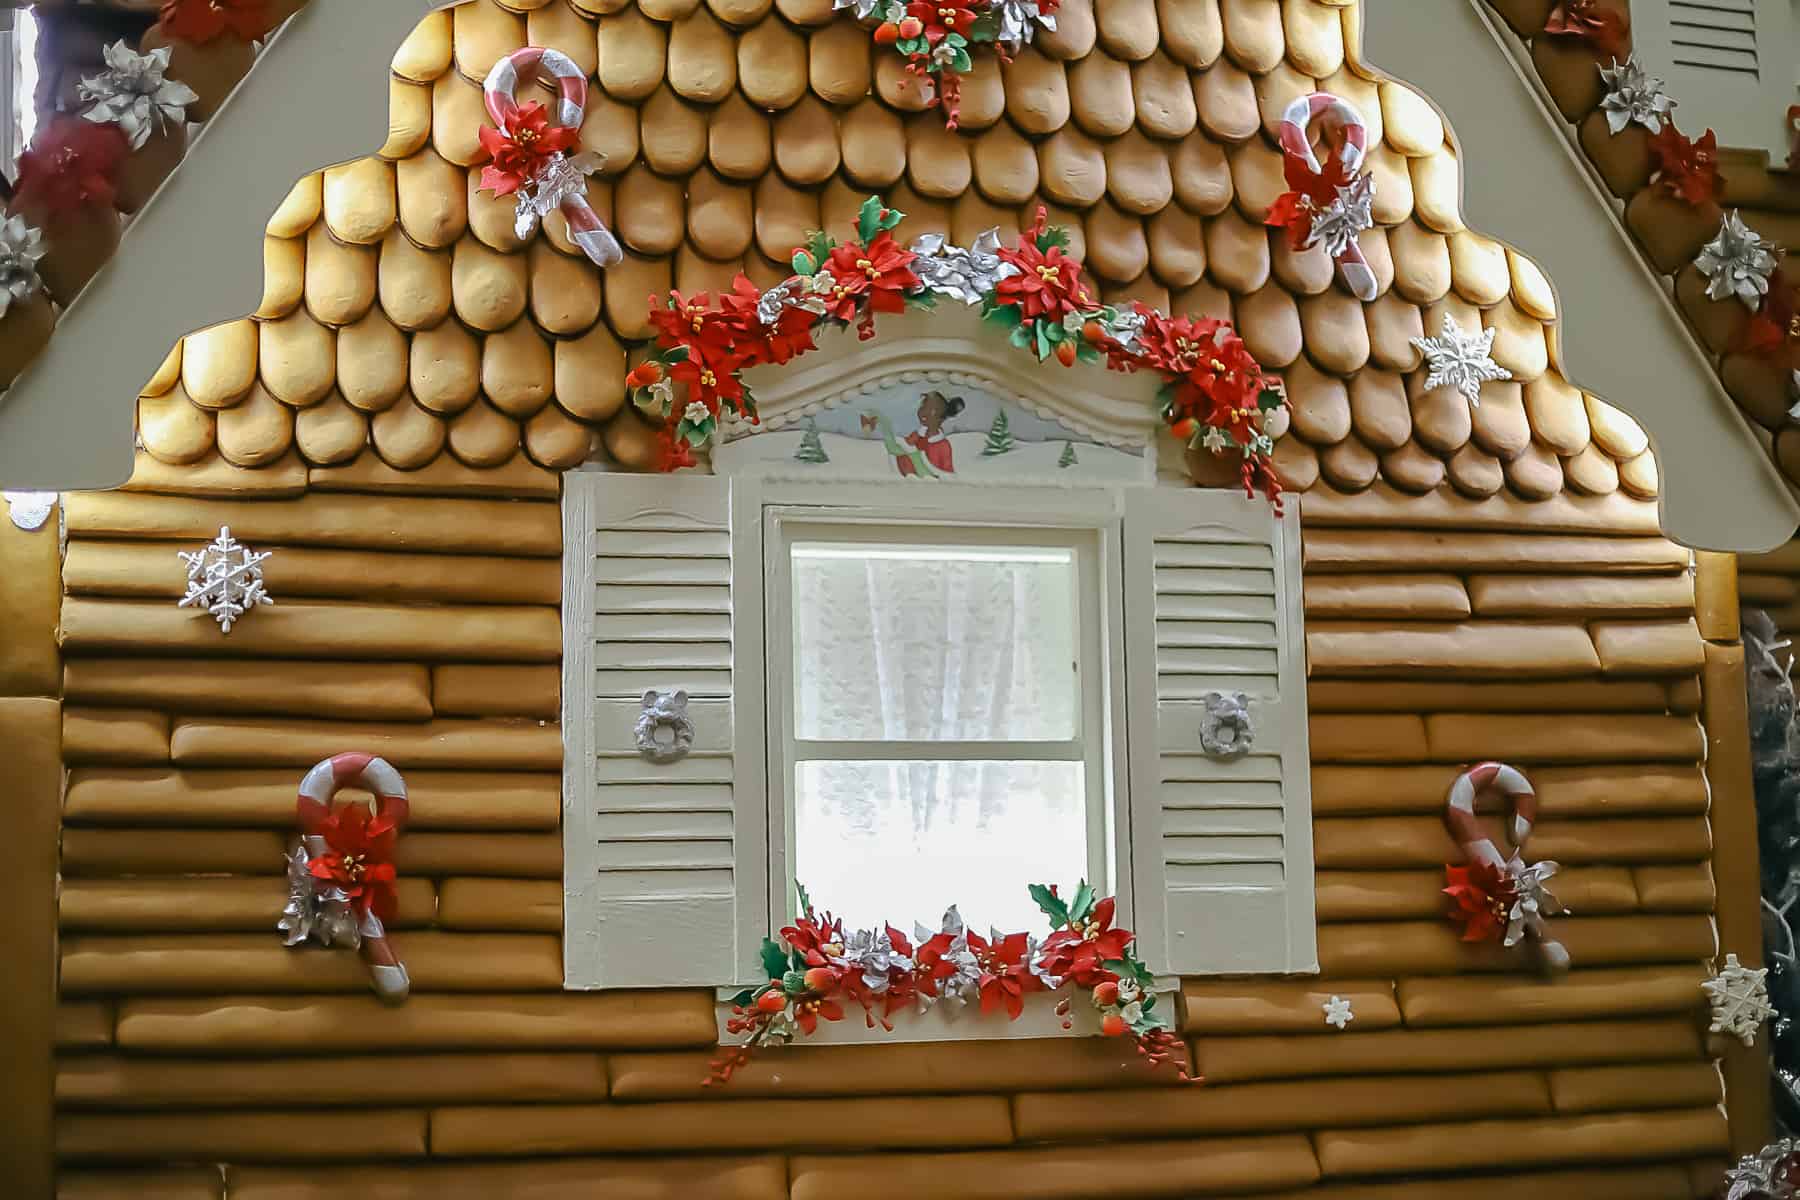
[[[905,58],[907,74],[936,81],[929,104],[943,104],[943,122],[956,128],[963,76],[976,68],[970,52],[992,45],[1003,63],[1031,41],[1039,27],[1057,29],[1062,0],[832,0],[859,22],[877,22],[875,45]]]

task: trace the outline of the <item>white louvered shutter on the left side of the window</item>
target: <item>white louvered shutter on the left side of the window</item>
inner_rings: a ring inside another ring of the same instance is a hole
[[[565,982],[738,982],[738,918],[763,894],[763,849],[740,786],[761,761],[734,757],[729,480],[563,480]],[[693,748],[655,763],[637,750],[643,694],[677,689]]]

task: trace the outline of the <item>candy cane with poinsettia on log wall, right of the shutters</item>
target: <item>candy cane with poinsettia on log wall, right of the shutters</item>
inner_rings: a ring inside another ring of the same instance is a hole
[[[1481,829],[1476,808],[1489,795],[1499,795],[1507,804],[1505,831],[1512,855],[1501,855],[1494,840]],[[1456,775],[1449,797],[1444,804],[1444,828],[1462,846],[1463,856],[1471,864],[1489,867],[1499,880],[1503,894],[1496,903],[1505,907],[1507,919],[1503,943],[1517,945],[1526,934],[1535,941],[1537,950],[1550,972],[1566,972],[1570,966],[1568,950],[1550,937],[1544,914],[1562,912],[1562,905],[1550,894],[1546,883],[1557,873],[1557,864],[1539,862],[1525,865],[1519,847],[1532,837],[1537,820],[1537,790],[1516,766],[1505,763],[1478,763]]]

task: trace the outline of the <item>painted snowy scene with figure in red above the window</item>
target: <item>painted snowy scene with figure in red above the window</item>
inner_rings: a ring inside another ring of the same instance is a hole
[[[1102,446],[970,383],[891,381],[713,452],[718,471],[958,482],[1148,482],[1138,450]]]

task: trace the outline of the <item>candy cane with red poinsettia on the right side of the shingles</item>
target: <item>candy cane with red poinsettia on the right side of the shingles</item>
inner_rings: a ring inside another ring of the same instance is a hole
[[[1327,166],[1312,153],[1310,128],[1328,119],[1343,135]],[[1368,124],[1355,106],[1330,92],[1301,95],[1282,113],[1282,151],[1287,157],[1287,185],[1269,212],[1271,225],[1294,230],[1294,248],[1323,245],[1337,263],[1345,286],[1359,300],[1375,299],[1375,272],[1363,257],[1357,234],[1375,223],[1375,178],[1359,173],[1368,153]]]

